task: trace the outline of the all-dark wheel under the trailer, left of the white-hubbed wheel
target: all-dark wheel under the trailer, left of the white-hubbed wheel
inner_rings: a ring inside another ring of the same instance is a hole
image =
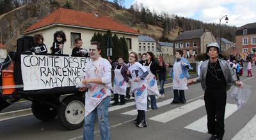
[[[56,109],[52,108],[52,106],[40,102],[32,102],[31,110],[33,115],[38,118],[38,120],[42,121],[54,120],[54,118],[57,116]]]

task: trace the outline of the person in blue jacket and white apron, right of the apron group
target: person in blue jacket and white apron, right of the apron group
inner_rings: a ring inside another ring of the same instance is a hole
[[[173,101],[172,104],[186,103],[184,90],[187,90],[187,78],[189,78],[188,70],[193,69],[188,60],[182,57],[182,50],[177,50],[175,53],[175,62],[172,68],[173,78]]]

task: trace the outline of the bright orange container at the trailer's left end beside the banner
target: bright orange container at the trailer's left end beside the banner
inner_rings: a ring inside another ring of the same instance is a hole
[[[12,94],[15,91],[15,83],[12,70],[2,71],[3,95]]]

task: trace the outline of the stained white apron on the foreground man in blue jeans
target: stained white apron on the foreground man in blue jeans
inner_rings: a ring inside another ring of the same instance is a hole
[[[100,68],[95,66],[90,67],[86,71],[87,78],[101,78],[100,75],[102,74],[99,73]],[[88,83],[88,92],[86,92],[85,99],[85,116],[89,115],[108,96],[108,92],[111,91],[102,84]]]

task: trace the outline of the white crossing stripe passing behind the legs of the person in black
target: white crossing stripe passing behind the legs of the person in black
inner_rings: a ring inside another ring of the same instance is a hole
[[[225,119],[228,118],[228,116],[232,115],[234,112],[237,111],[236,104],[226,104],[225,109]],[[190,123],[185,127],[185,129],[195,130],[198,132],[207,133],[207,115],[203,116],[202,118],[196,120],[193,123]]]

